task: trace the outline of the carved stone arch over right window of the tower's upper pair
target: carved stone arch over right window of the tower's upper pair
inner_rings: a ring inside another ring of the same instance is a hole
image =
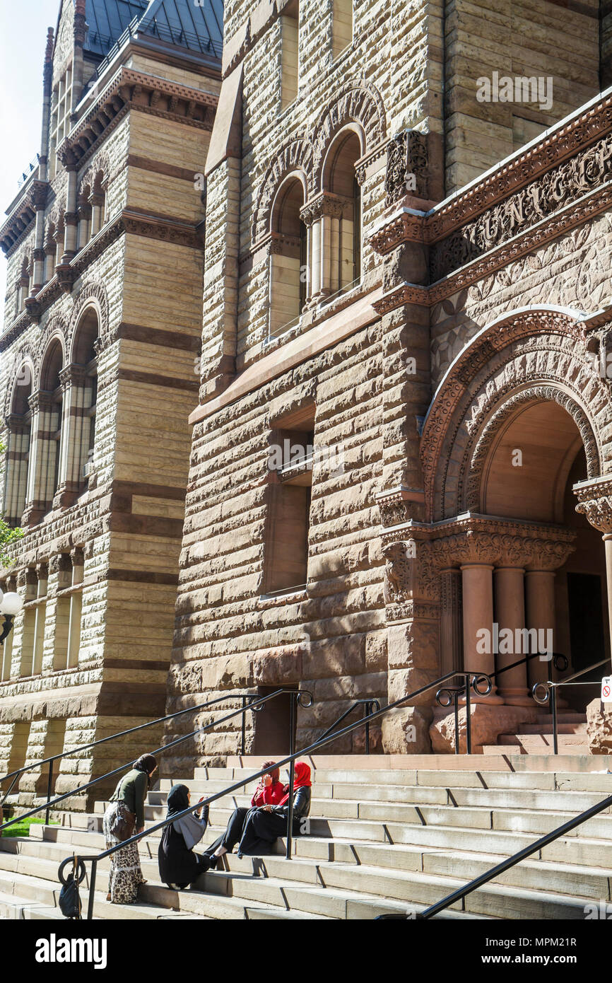
[[[356,83],[340,90],[334,102],[319,116],[312,132],[312,169],[308,191],[315,195],[321,188],[323,163],[337,134],[357,123],[364,135],[363,153],[385,137],[387,124],[382,96],[374,86]]]

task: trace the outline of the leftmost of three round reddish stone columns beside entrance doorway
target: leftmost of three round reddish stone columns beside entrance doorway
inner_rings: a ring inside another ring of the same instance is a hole
[[[481,640],[482,629],[493,637],[493,566],[488,563],[467,563],[462,566],[462,593],[464,614],[464,668],[472,672],[495,671],[495,657],[492,651],[479,652],[489,648]],[[480,641],[480,644],[478,642]],[[475,703],[503,703],[495,693],[495,684],[487,696],[472,695]]]

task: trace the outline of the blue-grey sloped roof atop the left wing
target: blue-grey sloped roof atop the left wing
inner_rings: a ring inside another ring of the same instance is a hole
[[[202,0],[202,6],[194,0],[86,0],[85,9],[85,49],[95,54],[106,55],[131,24],[140,36],[221,54],[223,0]]]

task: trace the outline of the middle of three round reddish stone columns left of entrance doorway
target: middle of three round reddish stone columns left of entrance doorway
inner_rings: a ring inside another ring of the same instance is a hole
[[[523,640],[525,628],[525,570],[522,567],[501,566],[495,570],[495,616],[499,626],[499,653],[496,668],[512,665],[524,659],[517,640]],[[504,629],[506,630],[504,632]],[[510,632],[509,638],[502,635]],[[502,651],[504,650],[504,651]],[[527,665],[517,665],[502,673],[497,680],[504,702],[517,707],[531,706],[527,688]]]

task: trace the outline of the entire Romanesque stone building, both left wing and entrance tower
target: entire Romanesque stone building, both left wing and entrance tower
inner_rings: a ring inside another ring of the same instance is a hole
[[[304,745],[356,699],[516,661],[483,631],[550,631],[570,671],[609,658],[612,14],[125,6],[62,3],[40,159],[0,229],[4,508],[26,530],[0,770],[279,685],[313,695]],[[529,721],[547,672],[495,678],[476,743]],[[288,724],[277,700],[249,749]],[[164,769],[235,753],[239,728]],[[448,732],[429,692],[372,739]],[[56,790],[124,750],[65,759]]]

